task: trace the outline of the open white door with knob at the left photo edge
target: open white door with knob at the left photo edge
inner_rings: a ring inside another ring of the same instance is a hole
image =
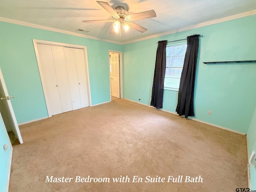
[[[2,74],[2,71],[0,69],[0,97],[1,97],[1,110],[4,110],[2,113],[4,124],[6,126],[7,130],[12,130],[20,144],[23,143],[21,134],[20,134],[20,129],[12,108],[12,103],[10,101],[10,98],[14,98],[13,96],[9,96],[5,82],[4,82],[4,77]],[[10,127],[8,127],[10,126]]]

